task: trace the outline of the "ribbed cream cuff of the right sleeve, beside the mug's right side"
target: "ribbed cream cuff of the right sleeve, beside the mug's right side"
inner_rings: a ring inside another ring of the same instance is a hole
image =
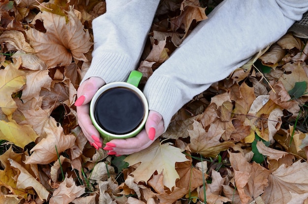
[[[161,114],[166,131],[173,115],[185,104],[181,90],[168,76],[152,75],[143,92],[148,99],[149,110]]]

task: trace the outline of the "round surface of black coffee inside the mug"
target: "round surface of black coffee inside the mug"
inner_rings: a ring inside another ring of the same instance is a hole
[[[94,117],[104,130],[119,135],[136,129],[144,112],[143,102],[138,95],[128,88],[116,87],[99,96]]]

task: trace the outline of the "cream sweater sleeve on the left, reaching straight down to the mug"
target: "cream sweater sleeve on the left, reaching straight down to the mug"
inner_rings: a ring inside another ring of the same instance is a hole
[[[94,50],[81,83],[100,77],[125,81],[138,65],[159,0],[106,0],[106,13],[92,22]]]

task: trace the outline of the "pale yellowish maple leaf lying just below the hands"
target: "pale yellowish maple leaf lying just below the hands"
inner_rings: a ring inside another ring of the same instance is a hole
[[[147,182],[155,171],[158,174],[163,172],[163,184],[171,189],[175,186],[176,179],[180,178],[175,170],[175,163],[185,162],[187,159],[181,149],[171,146],[170,143],[160,144],[156,141],[148,148],[127,156],[124,161],[129,163],[129,166],[141,162],[131,173],[135,181]]]

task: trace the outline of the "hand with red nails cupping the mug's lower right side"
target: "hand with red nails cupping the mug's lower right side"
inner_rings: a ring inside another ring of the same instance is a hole
[[[145,128],[136,137],[114,139],[106,143],[103,149],[108,150],[109,155],[132,154],[150,146],[163,132],[164,123],[162,116],[155,111],[150,111]]]

